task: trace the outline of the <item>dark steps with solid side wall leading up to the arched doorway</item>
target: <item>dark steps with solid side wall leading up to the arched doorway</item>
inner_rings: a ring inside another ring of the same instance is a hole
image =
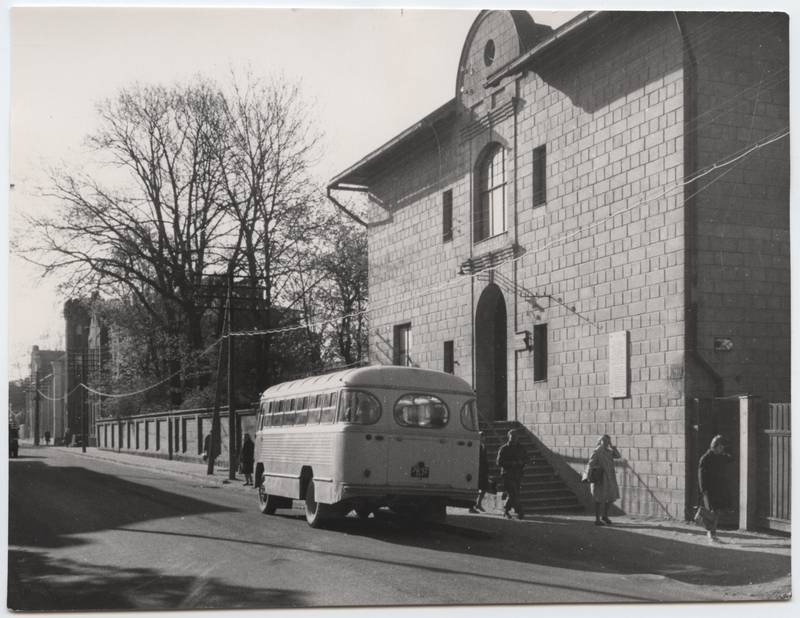
[[[530,458],[530,463],[525,466],[522,477],[521,502],[522,508],[528,515],[536,513],[583,513],[584,506],[566,483],[556,474],[553,467],[547,462],[537,448],[530,432],[516,421],[495,421],[481,423],[486,441],[486,455],[489,463],[489,478],[500,482],[500,470],[495,461],[497,451],[506,441],[506,434],[510,429],[519,429],[521,442]],[[499,491],[499,490],[498,490]],[[502,509],[500,493],[492,500],[491,495],[486,496],[491,510]]]

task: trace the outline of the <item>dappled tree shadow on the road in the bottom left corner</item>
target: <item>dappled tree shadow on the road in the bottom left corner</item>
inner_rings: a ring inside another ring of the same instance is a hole
[[[25,550],[9,552],[8,572],[13,610],[252,609],[307,603],[301,591],[248,588],[151,568],[109,568]]]

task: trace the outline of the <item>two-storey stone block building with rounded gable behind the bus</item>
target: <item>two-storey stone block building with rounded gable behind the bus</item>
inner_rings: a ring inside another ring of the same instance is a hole
[[[789,401],[788,36],[481,12],[454,97],[329,184],[369,198],[372,361],[465,378],[562,470],[611,434],[621,508],[683,517],[697,414]]]

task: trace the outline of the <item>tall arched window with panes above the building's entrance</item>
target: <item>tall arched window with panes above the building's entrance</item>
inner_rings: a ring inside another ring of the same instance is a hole
[[[503,147],[493,146],[478,165],[475,241],[506,230],[506,166]]]

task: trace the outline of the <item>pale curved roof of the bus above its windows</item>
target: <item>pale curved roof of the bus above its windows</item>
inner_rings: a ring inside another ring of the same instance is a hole
[[[372,365],[282,382],[270,386],[261,396],[282,397],[293,393],[318,392],[345,386],[428,392],[449,391],[465,395],[474,392],[466,381],[450,373],[417,367]]]

